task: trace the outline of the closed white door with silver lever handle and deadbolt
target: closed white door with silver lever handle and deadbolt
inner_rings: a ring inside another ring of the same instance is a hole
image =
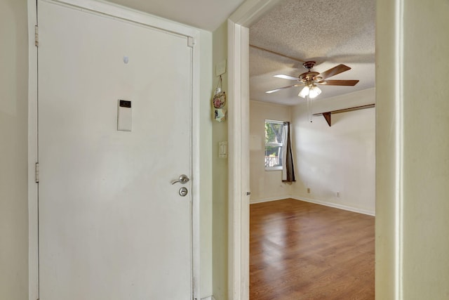
[[[187,37],[38,12],[40,299],[192,299],[192,181],[171,184],[192,174]]]

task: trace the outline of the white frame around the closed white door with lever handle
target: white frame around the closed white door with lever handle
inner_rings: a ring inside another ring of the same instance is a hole
[[[200,292],[200,30],[170,20],[135,11],[124,6],[96,0],[43,0],[75,6],[114,18],[137,22],[142,25],[173,32],[192,38],[192,298],[199,300]],[[29,300],[39,299],[39,185],[35,183],[35,164],[38,162],[38,51],[35,46],[37,24],[37,0],[27,0],[28,8],[28,285]]]

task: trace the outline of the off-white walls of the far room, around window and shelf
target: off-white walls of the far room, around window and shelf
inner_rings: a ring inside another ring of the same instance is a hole
[[[313,112],[371,103],[375,89],[318,100]],[[291,121],[295,183],[282,183],[281,171],[264,170],[265,119]],[[305,103],[250,101],[250,188],[252,203],[293,197],[374,215],[375,108],[335,114],[329,127],[321,116],[310,123]]]

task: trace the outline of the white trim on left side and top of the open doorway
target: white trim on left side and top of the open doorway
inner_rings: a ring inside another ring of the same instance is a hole
[[[229,299],[249,299],[249,30],[280,0],[247,0],[228,20]]]

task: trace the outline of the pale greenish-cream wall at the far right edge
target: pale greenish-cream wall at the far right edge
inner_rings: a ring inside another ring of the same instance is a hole
[[[449,2],[404,14],[403,298],[449,299]],[[424,57],[431,84],[413,65]]]

